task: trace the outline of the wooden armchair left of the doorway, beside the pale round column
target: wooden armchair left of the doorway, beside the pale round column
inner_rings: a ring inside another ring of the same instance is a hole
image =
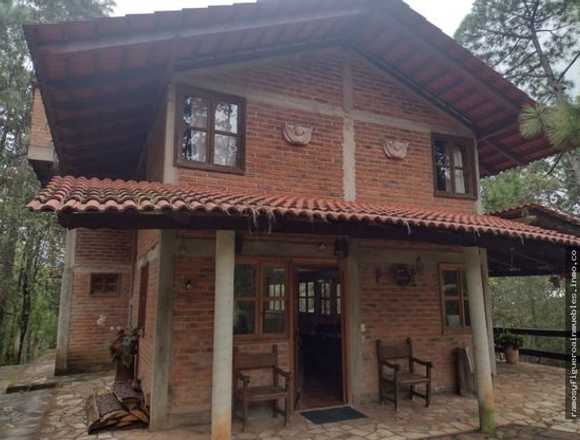
[[[271,370],[272,385],[250,385],[246,371]],[[284,378],[284,385],[280,384]],[[250,402],[272,402],[272,415],[284,416],[284,426],[288,424],[290,412],[290,391],[292,375],[278,366],[278,346],[272,346],[272,353],[241,353],[234,347],[234,412],[241,407],[243,431],[248,423],[248,405]],[[284,399],[284,411],[278,408],[278,400]]]

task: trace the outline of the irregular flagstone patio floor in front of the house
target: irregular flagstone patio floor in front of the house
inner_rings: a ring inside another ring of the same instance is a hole
[[[29,369],[31,379],[43,380],[44,367]],[[8,370],[6,370],[8,371]],[[0,378],[5,376],[0,369]],[[45,374],[46,376],[46,374]],[[19,375],[22,381],[23,375]],[[26,377],[24,375],[24,377]],[[54,380],[52,378],[51,380]],[[68,376],[58,379],[51,390],[0,395],[0,438],[34,440],[181,440],[209,438],[209,427],[191,427],[166,432],[146,430],[86,434],[84,399],[95,389],[105,390],[109,374]],[[39,394],[42,393],[42,394]],[[499,439],[580,439],[580,422],[564,418],[564,370],[522,363],[499,365],[497,377],[497,420]],[[26,403],[28,402],[28,403]],[[6,408],[10,408],[6,411]],[[248,432],[234,424],[235,440],[401,440],[438,437],[442,439],[489,438],[474,431],[478,426],[475,399],[435,395],[430,408],[405,400],[398,414],[392,406],[360,405],[368,416],[347,423],[314,425],[294,414],[288,427],[282,419],[258,416],[250,420]],[[8,425],[6,425],[8,423]],[[4,429],[3,425],[8,426]],[[10,429],[12,426],[12,431]],[[21,429],[25,427],[26,429]]]

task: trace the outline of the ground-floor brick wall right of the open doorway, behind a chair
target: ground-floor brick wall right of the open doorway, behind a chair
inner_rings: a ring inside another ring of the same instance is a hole
[[[471,344],[471,333],[443,330],[438,266],[461,263],[461,248],[394,242],[366,245],[359,262],[361,323],[366,327],[361,343],[362,400],[377,399],[377,339],[404,343],[411,337],[415,355],[433,362],[435,390],[452,390],[456,384],[454,351]],[[388,272],[389,264],[412,264],[416,256],[423,260],[423,274],[417,276],[415,286],[398,286]],[[378,280],[377,269],[383,271]]]

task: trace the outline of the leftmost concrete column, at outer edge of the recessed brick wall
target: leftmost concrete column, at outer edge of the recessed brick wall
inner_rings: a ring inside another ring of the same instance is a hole
[[[60,302],[58,306],[58,331],[56,337],[56,360],[54,374],[68,372],[68,341],[72,306],[73,266],[75,262],[77,231],[69,229],[65,236],[64,268],[60,283]],[[96,325],[96,323],[93,323]]]

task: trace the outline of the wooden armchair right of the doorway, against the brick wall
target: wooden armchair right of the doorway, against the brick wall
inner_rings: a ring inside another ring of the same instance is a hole
[[[377,339],[377,361],[380,403],[390,400],[395,404],[395,411],[398,411],[401,387],[408,386],[411,399],[418,396],[425,399],[425,406],[431,404],[431,369],[433,364],[413,356],[411,338],[407,338],[404,344],[399,345],[385,345]],[[415,371],[415,364],[425,368],[424,374]],[[420,394],[415,390],[417,385],[425,385],[425,394]],[[389,389],[392,390],[392,398],[388,395]]]

